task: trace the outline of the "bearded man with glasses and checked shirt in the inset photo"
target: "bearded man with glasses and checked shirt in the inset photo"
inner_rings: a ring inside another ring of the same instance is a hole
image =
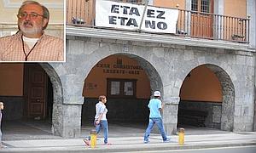
[[[0,61],[64,61],[64,41],[44,34],[49,23],[48,8],[25,1],[17,17],[19,31],[0,38]]]

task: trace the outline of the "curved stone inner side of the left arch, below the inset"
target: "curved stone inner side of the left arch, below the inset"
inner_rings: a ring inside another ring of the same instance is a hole
[[[61,85],[61,78],[55,71],[54,67],[48,63],[40,63],[44,71],[48,74],[50,82],[52,83],[53,88],[53,111],[52,111],[52,133],[54,135],[62,136],[62,122],[63,116],[62,104],[63,104],[63,90]]]

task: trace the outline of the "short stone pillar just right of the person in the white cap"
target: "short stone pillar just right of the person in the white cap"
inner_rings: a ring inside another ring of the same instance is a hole
[[[170,99],[163,100],[163,122],[167,135],[177,134],[177,111],[179,100],[179,97],[171,97]]]

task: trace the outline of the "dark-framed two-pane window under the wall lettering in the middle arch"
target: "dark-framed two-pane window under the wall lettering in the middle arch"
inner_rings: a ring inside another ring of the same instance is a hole
[[[136,98],[136,79],[108,78],[108,97]]]

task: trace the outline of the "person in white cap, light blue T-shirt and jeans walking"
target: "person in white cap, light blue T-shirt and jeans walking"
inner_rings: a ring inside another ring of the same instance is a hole
[[[163,108],[162,102],[160,100],[160,91],[155,91],[154,92],[154,99],[150,99],[148,103],[148,108],[149,108],[149,121],[148,121],[148,127],[146,129],[146,132],[144,134],[144,144],[148,144],[149,140],[149,135],[154,127],[154,124],[157,125],[157,127],[160,130],[160,134],[162,136],[163,142],[170,142],[170,139],[167,138],[166,132],[163,126],[163,121],[162,117],[160,115],[160,111]]]

